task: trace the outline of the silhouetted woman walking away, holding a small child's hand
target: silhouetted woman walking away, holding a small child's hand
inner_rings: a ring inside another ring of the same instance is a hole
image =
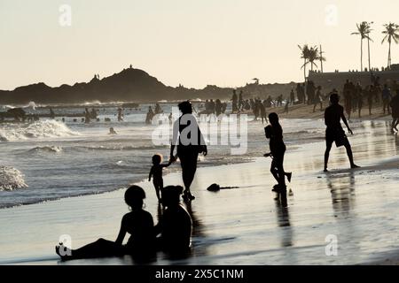
[[[192,115],[192,103],[186,101],[178,104],[182,115],[173,125],[173,139],[170,146],[170,160],[173,162],[174,150],[177,146],[177,156],[182,166],[184,182],[184,199],[192,200],[194,195],[190,192],[192,180],[197,171],[197,159],[199,153],[207,156],[207,145],[201,134],[197,119]]]

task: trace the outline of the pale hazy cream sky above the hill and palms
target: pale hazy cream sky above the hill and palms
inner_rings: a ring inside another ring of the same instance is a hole
[[[61,4],[71,27],[59,24]],[[381,67],[382,25],[399,23],[398,11],[398,0],[0,0],[0,89],[74,84],[129,64],[170,86],[297,81],[303,43],[323,45],[325,71],[360,69],[350,33],[363,20],[374,22],[372,65]],[[392,52],[399,62],[399,45]]]

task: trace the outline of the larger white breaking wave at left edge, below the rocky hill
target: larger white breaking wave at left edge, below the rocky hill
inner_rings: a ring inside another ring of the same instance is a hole
[[[1,142],[74,135],[79,135],[79,133],[72,131],[64,123],[56,120],[36,121],[32,124],[7,124],[3,128],[0,128]]]

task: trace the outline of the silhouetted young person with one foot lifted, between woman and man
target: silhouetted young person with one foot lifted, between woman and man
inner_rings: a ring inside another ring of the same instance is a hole
[[[270,165],[270,172],[278,184],[274,186],[274,191],[286,190],[286,176],[288,181],[291,181],[291,173],[284,171],[284,155],[286,154],[286,144],[283,141],[283,128],[278,122],[278,114],[269,114],[270,125],[264,128],[266,138],[270,139],[270,154],[272,161]]]

